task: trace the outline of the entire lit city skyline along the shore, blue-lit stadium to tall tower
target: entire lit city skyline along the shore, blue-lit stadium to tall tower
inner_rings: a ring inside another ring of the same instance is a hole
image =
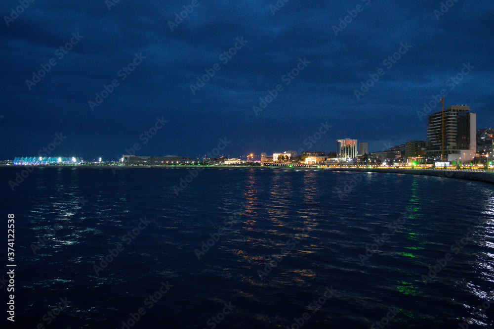
[[[389,147],[387,150],[369,152],[367,142],[358,143],[356,139],[338,139],[334,151],[297,151],[287,150],[272,155],[261,153],[241,158],[204,158],[192,159],[184,156],[137,156],[123,155],[120,161],[84,162],[76,157],[16,157],[5,164],[14,165],[74,165],[74,164],[110,164],[110,165],[421,165],[421,164],[491,164],[494,157],[494,129],[476,130],[476,114],[466,105],[448,106],[444,110],[427,116],[427,141],[407,141],[404,144]],[[493,160],[494,161],[494,160]]]

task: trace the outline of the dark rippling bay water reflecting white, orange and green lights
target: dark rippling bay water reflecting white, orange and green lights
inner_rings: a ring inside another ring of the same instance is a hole
[[[12,191],[17,171],[0,170],[0,216],[15,214],[7,328],[494,326],[491,184],[36,168]]]

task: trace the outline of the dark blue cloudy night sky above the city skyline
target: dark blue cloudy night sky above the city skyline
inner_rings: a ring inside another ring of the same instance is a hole
[[[441,90],[494,125],[490,1],[112,1],[1,2],[0,158],[378,151]]]

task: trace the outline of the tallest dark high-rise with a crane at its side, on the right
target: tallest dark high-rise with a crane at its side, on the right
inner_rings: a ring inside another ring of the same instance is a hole
[[[453,105],[427,116],[425,156],[445,161],[470,161],[476,154],[476,114],[466,105]]]

